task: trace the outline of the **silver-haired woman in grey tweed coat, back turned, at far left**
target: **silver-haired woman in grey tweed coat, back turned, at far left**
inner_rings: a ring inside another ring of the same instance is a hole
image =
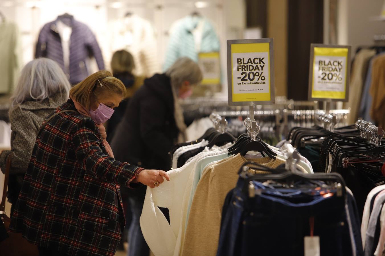
[[[8,180],[8,202],[11,218],[31,158],[37,132],[44,119],[67,101],[71,86],[56,62],[47,58],[32,60],[24,66],[11,98],[11,150],[0,154],[4,172],[8,156],[12,165]]]

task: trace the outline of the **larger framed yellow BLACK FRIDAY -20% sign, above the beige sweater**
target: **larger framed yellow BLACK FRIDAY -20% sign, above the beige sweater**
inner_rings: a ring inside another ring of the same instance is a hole
[[[270,38],[228,40],[230,105],[274,103],[272,52],[273,40]]]

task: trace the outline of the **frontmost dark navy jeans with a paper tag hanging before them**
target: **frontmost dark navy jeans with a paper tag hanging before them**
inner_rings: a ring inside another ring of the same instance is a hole
[[[254,248],[261,256],[303,255],[310,217],[314,217],[314,235],[320,236],[321,256],[353,255],[344,198],[318,195],[311,201],[296,201],[264,194],[249,198],[244,206],[239,255],[254,255]]]

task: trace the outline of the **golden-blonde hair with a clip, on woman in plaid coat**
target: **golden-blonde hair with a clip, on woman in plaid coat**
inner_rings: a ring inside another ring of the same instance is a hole
[[[70,98],[89,109],[95,97],[111,93],[121,95],[123,98],[126,95],[126,87],[121,80],[112,76],[110,71],[100,70],[72,87]]]

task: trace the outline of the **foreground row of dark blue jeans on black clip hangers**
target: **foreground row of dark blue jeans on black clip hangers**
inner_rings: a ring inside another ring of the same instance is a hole
[[[224,201],[217,256],[363,255],[354,198],[340,175],[255,163],[239,173]]]

